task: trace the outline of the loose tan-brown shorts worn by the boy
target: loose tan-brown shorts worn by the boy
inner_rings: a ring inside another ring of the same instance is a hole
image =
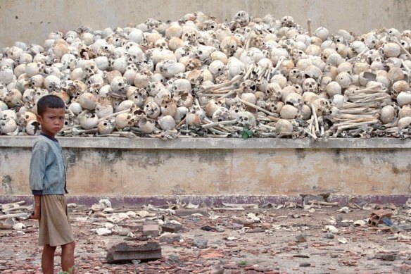
[[[58,247],[74,242],[64,195],[42,195],[39,218],[39,245]]]

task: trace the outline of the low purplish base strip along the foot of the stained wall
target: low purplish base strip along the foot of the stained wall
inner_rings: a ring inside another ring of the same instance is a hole
[[[362,204],[396,204],[402,206],[411,195],[363,195],[355,198],[355,203]],[[139,196],[68,196],[68,203],[76,203],[77,205],[91,206],[98,204],[100,199],[109,199],[113,207],[120,206],[144,206],[151,204],[153,206],[163,206],[167,202],[175,203],[177,200],[188,204],[205,204],[207,206],[221,206],[222,203],[228,204],[284,204],[293,202],[298,205],[303,205],[303,197],[301,195],[227,195],[227,196],[158,196],[158,197],[139,197]],[[350,197],[348,195],[332,195],[329,197],[329,202],[338,202],[339,206],[346,206]],[[27,204],[33,202],[33,197],[30,195],[20,196],[1,196],[0,204],[13,203],[16,201],[26,201]]]

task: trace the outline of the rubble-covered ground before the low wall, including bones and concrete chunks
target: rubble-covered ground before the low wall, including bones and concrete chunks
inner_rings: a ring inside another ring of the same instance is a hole
[[[409,273],[410,201],[142,207],[108,201],[70,204],[69,211],[78,273]],[[0,206],[0,272],[41,273],[38,223],[27,218],[32,206]]]

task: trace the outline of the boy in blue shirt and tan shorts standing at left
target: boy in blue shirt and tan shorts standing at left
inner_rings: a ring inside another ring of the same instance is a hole
[[[53,274],[54,251],[61,246],[61,268],[74,269],[75,242],[68,218],[65,189],[65,166],[56,133],[64,125],[65,103],[54,95],[37,102],[37,120],[42,132],[32,148],[30,188],[34,195],[31,218],[39,220],[39,245],[44,246],[42,270]],[[71,273],[74,273],[72,271]]]

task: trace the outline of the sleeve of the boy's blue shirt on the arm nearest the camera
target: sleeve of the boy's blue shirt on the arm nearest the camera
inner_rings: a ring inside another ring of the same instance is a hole
[[[44,173],[46,171],[46,148],[44,145],[34,144],[30,160],[30,188],[32,194],[41,195],[43,190]]]

